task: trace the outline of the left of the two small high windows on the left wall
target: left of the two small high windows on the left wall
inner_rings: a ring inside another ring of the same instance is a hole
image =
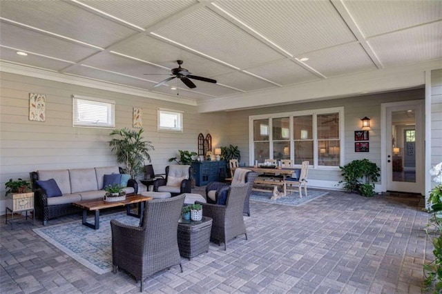
[[[115,128],[115,101],[73,95],[73,126]]]

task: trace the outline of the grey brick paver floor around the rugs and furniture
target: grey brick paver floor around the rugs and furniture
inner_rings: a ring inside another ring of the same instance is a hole
[[[365,198],[336,191],[299,207],[251,202],[249,239],[182,259],[145,282],[146,293],[421,293],[432,245],[423,197]],[[48,225],[80,219],[70,215]],[[1,217],[1,293],[139,293],[119,271],[98,275]]]

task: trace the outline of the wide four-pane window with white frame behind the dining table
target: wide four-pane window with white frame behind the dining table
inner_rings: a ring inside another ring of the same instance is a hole
[[[332,108],[251,116],[251,162],[291,159],[296,165],[339,166],[342,115],[343,108]]]

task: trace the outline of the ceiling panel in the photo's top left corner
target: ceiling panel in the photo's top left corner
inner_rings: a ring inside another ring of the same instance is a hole
[[[0,11],[6,19],[102,48],[136,32],[67,1],[1,1]]]

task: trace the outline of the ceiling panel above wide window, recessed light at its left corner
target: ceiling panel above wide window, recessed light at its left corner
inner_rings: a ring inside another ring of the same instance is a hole
[[[300,57],[308,57],[309,60],[305,61],[305,64],[325,77],[376,69],[372,59],[368,57],[359,43],[318,50]]]

